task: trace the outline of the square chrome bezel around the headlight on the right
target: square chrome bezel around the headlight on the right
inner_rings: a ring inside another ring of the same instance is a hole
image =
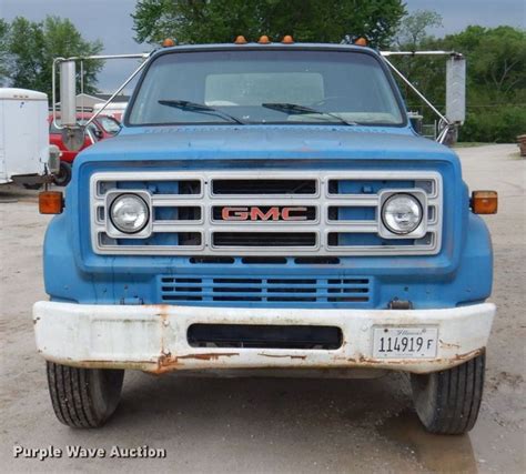
[[[396,195],[407,195],[412,198],[421,210],[421,219],[418,224],[411,232],[396,232],[385,222],[384,209],[387,201]],[[427,233],[427,194],[419,189],[397,189],[384,190],[380,194],[378,202],[378,234],[384,239],[422,239]]]

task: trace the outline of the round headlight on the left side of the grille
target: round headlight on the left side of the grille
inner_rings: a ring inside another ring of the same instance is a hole
[[[110,219],[120,232],[135,234],[146,226],[150,220],[150,210],[141,196],[121,194],[111,203]]]

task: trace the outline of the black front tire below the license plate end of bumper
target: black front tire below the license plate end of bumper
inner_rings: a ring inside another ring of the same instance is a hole
[[[477,421],[486,355],[431,374],[411,374],[416,413],[431,433],[462,434]]]

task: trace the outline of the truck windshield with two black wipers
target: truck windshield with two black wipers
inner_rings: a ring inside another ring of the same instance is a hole
[[[326,50],[162,54],[129,114],[131,125],[235,122],[399,125],[404,118],[375,57]]]

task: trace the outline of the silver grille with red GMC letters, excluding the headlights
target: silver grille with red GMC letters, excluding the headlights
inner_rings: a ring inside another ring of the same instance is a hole
[[[148,192],[151,232],[110,236],[107,194]],[[381,193],[426,196],[426,233],[378,234]],[[91,177],[91,239],[99,254],[346,256],[436,254],[443,191],[433,171],[144,171]]]

